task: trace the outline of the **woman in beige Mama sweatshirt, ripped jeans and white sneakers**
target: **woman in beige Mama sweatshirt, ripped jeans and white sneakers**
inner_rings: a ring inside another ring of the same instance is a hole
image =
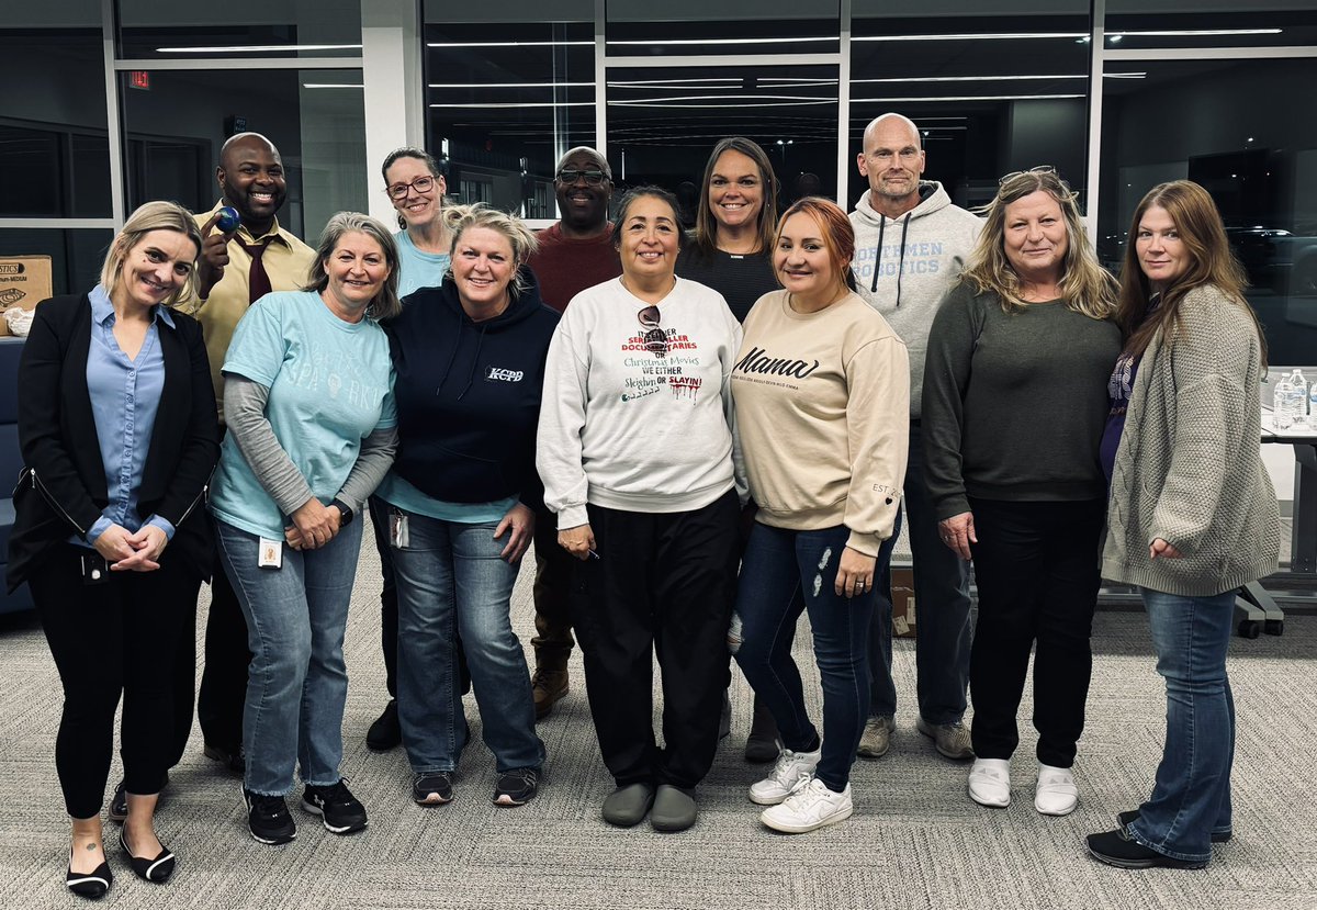
[[[855,232],[835,204],[806,198],[777,228],[785,290],[745,317],[732,370],[738,432],[759,503],[736,610],[745,678],[784,749],[749,798],[786,834],[852,813],[849,769],[869,710],[873,579],[890,556],[909,446],[905,344],[856,292]],[[823,682],[823,730],[805,710],[792,637],[809,611]]]

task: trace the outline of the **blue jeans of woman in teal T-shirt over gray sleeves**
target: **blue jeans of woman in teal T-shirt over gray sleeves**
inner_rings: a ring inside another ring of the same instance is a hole
[[[341,778],[342,706],[348,668],[342,635],[348,624],[361,522],[338,531],[320,549],[284,544],[283,568],[257,565],[257,535],[215,523],[220,561],[248,624],[246,703],[242,709],[244,785],[282,797],[302,780],[331,786]]]

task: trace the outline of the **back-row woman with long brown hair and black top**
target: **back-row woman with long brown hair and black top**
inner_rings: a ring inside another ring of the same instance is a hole
[[[677,274],[707,284],[727,299],[736,321],[745,321],[751,307],[778,290],[773,274],[773,230],[777,227],[777,175],[757,142],[731,136],[714,146],[705,165],[695,208],[695,229],[677,257]],[[743,533],[745,533],[743,524]],[[726,732],[731,706],[723,705]],[[745,760],[777,757],[777,724],[759,698]]]

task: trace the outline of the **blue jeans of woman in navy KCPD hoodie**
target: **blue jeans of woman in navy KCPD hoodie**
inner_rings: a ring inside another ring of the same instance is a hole
[[[399,511],[390,507],[390,512]],[[518,566],[497,524],[403,511],[410,540],[392,547],[398,581],[398,720],[412,772],[456,770],[466,747],[457,633],[499,773],[544,764],[525,653],[508,616]]]

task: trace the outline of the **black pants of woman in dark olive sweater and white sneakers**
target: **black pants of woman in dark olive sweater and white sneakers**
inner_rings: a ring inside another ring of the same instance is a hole
[[[971,499],[977,544],[979,624],[969,657],[972,737],[980,759],[1009,759],[1019,745],[1015,715],[1034,657],[1038,760],[1075,764],[1093,670],[1089,636],[1098,541],[1106,502]]]

